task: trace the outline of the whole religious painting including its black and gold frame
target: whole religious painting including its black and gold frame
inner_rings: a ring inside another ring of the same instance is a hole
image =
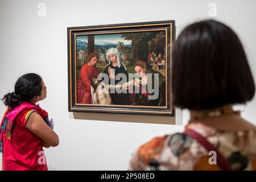
[[[68,27],[68,110],[175,116],[175,20]]]

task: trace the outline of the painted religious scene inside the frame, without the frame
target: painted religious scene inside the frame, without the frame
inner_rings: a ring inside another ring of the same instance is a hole
[[[166,106],[166,32],[76,36],[76,103]]]

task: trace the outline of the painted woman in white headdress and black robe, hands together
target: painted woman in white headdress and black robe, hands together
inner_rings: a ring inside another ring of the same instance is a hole
[[[106,59],[109,61],[109,65],[105,68],[104,73],[108,75],[109,82],[105,84],[120,84],[125,83],[129,80],[127,73],[127,68],[125,64],[122,63],[120,53],[117,48],[110,48],[106,52]],[[122,77],[121,80],[116,80],[116,76],[119,73],[123,73],[125,77]],[[114,80],[114,81],[111,81]],[[129,93],[111,93],[112,101],[114,105],[130,105],[131,101],[129,98]]]

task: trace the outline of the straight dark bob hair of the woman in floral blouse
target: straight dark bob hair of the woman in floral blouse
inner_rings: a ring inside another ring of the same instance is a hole
[[[172,51],[175,106],[204,110],[244,104],[254,92],[245,51],[231,28],[215,20],[184,28]]]

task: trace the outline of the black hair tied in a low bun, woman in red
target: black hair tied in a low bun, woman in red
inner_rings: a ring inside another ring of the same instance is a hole
[[[3,103],[11,108],[24,101],[30,101],[34,96],[40,96],[42,91],[42,78],[35,73],[28,73],[16,81],[14,92],[7,93]]]

